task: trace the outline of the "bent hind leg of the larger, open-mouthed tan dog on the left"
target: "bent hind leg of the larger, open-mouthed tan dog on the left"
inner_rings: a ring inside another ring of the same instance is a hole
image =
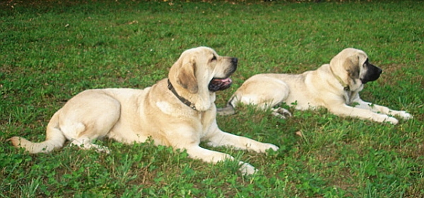
[[[66,103],[60,115],[64,135],[71,140],[71,145],[108,153],[107,148],[93,141],[108,136],[121,116],[121,104],[100,91],[86,92],[73,99]]]

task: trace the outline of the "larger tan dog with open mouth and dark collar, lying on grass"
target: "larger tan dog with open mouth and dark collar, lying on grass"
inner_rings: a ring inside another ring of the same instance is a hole
[[[82,148],[107,148],[92,143],[104,136],[126,144],[146,141],[156,145],[187,150],[189,157],[216,163],[232,156],[199,146],[233,146],[265,152],[273,144],[264,144],[218,129],[216,124],[216,91],[230,87],[229,76],[237,68],[237,58],[220,57],[208,47],[187,50],[172,65],[168,78],[139,89],[106,88],[79,93],[58,110],[47,125],[47,138],[33,143],[14,136],[14,146],[30,153],[49,152],[64,145]],[[252,174],[256,169],[240,161],[240,170]]]

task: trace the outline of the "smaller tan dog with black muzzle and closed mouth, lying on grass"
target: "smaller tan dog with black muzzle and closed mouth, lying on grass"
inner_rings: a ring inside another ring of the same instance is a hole
[[[287,103],[298,110],[326,107],[340,116],[358,117],[375,122],[397,124],[389,115],[409,119],[404,111],[367,103],[360,99],[359,92],[365,83],[375,81],[382,69],[370,64],[367,54],[361,50],[347,48],[341,51],[330,64],[303,74],[257,74],[247,79],[228,102],[218,110],[221,115],[234,112],[237,103],[257,105],[262,109]],[[273,115],[285,117],[290,112],[273,108]]]

